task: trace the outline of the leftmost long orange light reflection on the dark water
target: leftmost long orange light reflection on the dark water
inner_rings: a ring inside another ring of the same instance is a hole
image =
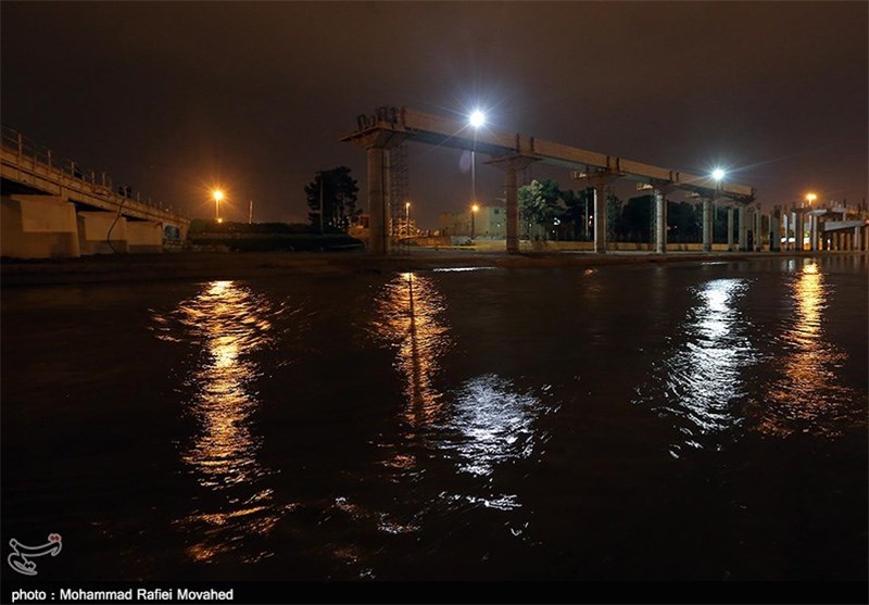
[[[198,348],[182,386],[185,412],[198,430],[182,444],[181,459],[202,488],[223,497],[218,509],[196,509],[179,520],[196,540],[188,547],[196,560],[267,534],[288,509],[265,484],[272,471],[259,459],[262,437],[253,418],[261,404],[254,382],[263,374],[253,354],[273,344],[274,322],[285,311],[245,286],[213,281],[172,313],[153,316],[158,338]],[[245,560],[272,554],[249,553]]]

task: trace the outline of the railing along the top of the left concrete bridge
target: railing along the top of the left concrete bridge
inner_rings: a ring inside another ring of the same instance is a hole
[[[172,205],[153,202],[151,198],[142,199],[139,191],[135,191],[128,186],[115,188],[111,175],[105,172],[87,169],[74,160],[54,153],[51,149],[37,143],[32,138],[5,124],[2,125],[2,148],[7,152],[17,155],[21,166],[27,164],[30,164],[34,168],[39,166],[58,177],[88,184],[91,188],[102,188],[102,193],[109,198],[126,198],[154,209],[174,211]]]

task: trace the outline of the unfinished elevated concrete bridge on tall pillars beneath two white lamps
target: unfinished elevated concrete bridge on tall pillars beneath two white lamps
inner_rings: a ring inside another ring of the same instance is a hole
[[[568,168],[575,180],[594,189],[594,250],[599,253],[606,252],[605,190],[617,179],[632,180],[653,191],[658,252],[665,252],[667,248],[666,197],[672,191],[685,190],[703,204],[703,248],[706,251],[711,250],[713,204],[730,207],[731,224],[733,209],[739,210],[740,249],[744,251],[748,249],[748,209],[757,209],[755,190],[746,185],[716,181],[710,176],[653,166],[518,133],[476,129],[468,124],[407,108],[382,106],[374,115],[360,115],[357,129],[341,140],[365,148],[368,156],[371,252],[375,254],[386,254],[390,250],[390,166],[387,151],[404,141],[463,149],[491,156],[487,164],[501,168],[505,174],[506,249],[511,253],[519,251],[517,173],[537,162]]]

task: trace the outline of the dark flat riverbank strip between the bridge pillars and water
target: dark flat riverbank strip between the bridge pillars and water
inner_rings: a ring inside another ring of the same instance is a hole
[[[859,252],[593,252],[524,253],[415,250],[391,256],[364,252],[178,252],[0,263],[3,287],[117,281],[249,279],[300,274],[380,273],[450,267],[569,267],[643,263],[704,263]],[[865,253],[864,253],[865,254]]]

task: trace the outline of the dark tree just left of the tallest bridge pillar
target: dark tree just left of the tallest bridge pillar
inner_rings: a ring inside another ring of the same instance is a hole
[[[312,210],[307,215],[311,224],[319,227],[322,201],[324,230],[329,227],[347,231],[350,224],[362,214],[362,210],[356,209],[358,190],[356,180],[350,176],[350,168],[347,166],[317,173],[314,180],[305,186],[307,205]]]

